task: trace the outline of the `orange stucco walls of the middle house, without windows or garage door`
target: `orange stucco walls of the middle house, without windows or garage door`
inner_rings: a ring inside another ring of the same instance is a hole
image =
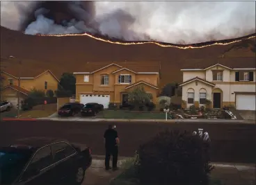
[[[159,74],[136,74],[126,69],[113,74],[113,71],[121,69],[115,65],[102,69],[93,74],[76,74],[76,101],[80,100],[81,94],[109,94],[111,103],[120,104],[122,102],[122,94],[127,91],[125,87],[129,84],[119,84],[118,76],[121,74],[131,75],[131,83],[143,80],[152,85],[158,85]],[[101,76],[109,75],[109,85],[101,85]],[[89,82],[83,82],[84,76],[89,76]],[[149,91],[153,96],[154,103],[157,102],[158,89],[145,85],[145,90]]]

